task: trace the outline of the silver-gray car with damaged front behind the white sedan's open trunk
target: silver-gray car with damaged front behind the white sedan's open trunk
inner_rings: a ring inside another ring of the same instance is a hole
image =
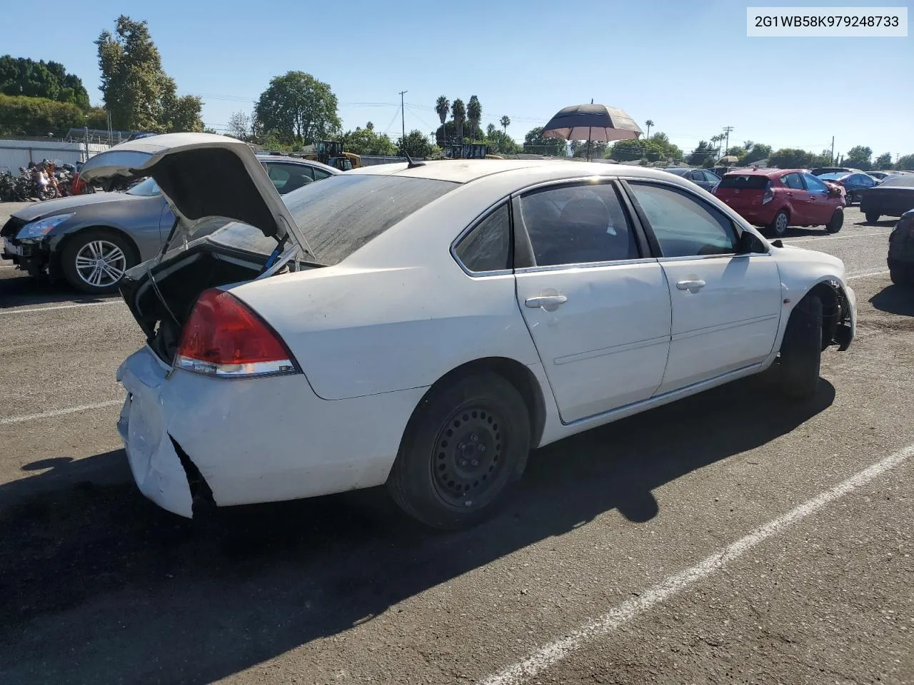
[[[258,159],[280,195],[340,173],[282,155]],[[159,186],[147,178],[123,193],[74,195],[20,209],[0,229],[2,257],[32,276],[47,273],[84,292],[111,292],[124,271],[154,257],[174,225]]]

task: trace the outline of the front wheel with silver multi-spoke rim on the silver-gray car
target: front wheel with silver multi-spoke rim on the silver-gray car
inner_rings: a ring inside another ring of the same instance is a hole
[[[60,254],[60,267],[69,283],[90,293],[117,290],[124,271],[135,263],[127,239],[104,228],[80,231],[69,239]]]

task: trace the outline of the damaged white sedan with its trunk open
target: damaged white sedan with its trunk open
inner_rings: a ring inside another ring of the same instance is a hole
[[[774,364],[808,397],[855,332],[840,259],[663,171],[400,163],[281,199],[220,136],[95,159],[83,176],[152,175],[178,217],[122,281],[148,344],[119,428],[140,490],[184,516],[387,483],[469,525],[531,448]]]

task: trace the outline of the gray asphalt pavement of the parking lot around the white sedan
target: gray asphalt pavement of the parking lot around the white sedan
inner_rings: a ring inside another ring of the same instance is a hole
[[[126,307],[0,263],[0,683],[914,682],[892,225],[855,207],[785,240],[857,293],[812,403],[749,379],[571,437],[447,534],[380,489],[206,526],[157,509],[114,428]]]

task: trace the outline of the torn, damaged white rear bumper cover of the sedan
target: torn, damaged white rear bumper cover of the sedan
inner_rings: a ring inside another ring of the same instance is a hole
[[[188,476],[202,479],[218,506],[384,483],[425,393],[323,400],[302,374],[228,380],[170,371],[148,347],[127,358],[118,430],[143,495],[186,517],[194,510]]]

